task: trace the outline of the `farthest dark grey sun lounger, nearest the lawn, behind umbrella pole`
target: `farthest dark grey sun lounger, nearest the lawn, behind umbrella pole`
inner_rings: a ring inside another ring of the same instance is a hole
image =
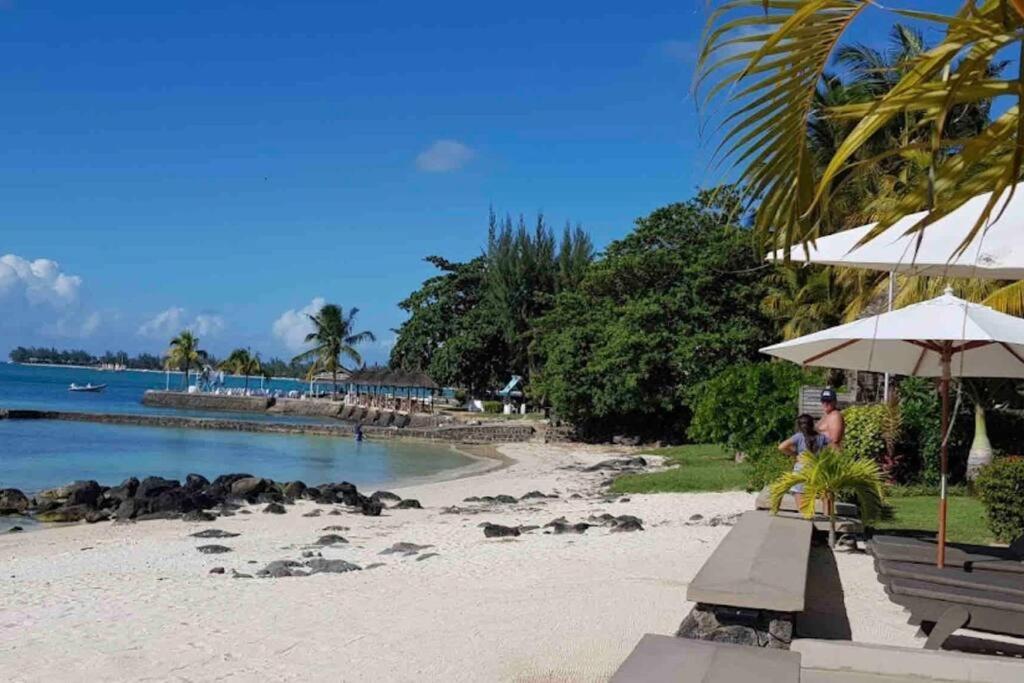
[[[988,569],[1024,573],[1020,555],[1021,541],[1009,548],[971,544],[946,544],[946,565],[967,569]],[[867,550],[877,559],[892,562],[934,564],[936,541],[928,537],[874,536],[867,542]]]

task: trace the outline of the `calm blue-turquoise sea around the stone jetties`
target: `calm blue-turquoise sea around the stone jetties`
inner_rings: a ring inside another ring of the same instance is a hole
[[[171,375],[180,386],[181,376]],[[101,393],[71,393],[72,383],[108,384]],[[241,380],[228,378],[229,386]],[[162,373],[100,372],[0,364],[0,408],[87,411],[99,413],[168,413],[218,416],[151,409],[141,404],[145,389],[162,389]],[[251,386],[258,386],[258,381]],[[274,380],[272,387],[296,388]],[[316,422],[253,414],[244,420]],[[165,429],[46,420],[0,420],[0,488],[26,492],[75,479],[113,484],[129,476],[182,478],[198,472],[213,478],[226,472],[250,472],[278,480],[307,483],[351,481],[385,487],[412,478],[432,476],[470,462],[454,450],[418,442],[364,441],[327,436],[253,434],[227,431]]]

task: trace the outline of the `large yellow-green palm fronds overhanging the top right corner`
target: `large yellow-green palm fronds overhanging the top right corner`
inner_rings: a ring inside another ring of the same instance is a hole
[[[777,246],[822,234],[822,217],[844,177],[865,165],[912,171],[890,174],[899,182],[878,203],[879,224],[869,237],[928,209],[913,226],[925,229],[992,191],[965,245],[1021,178],[1024,68],[1005,78],[999,59],[1024,48],[1024,0],[966,0],[954,14],[914,12],[943,31],[943,39],[928,47],[901,29],[895,53],[847,51],[850,59],[882,67],[860,75],[874,89],[865,101],[817,112],[815,93],[840,54],[841,38],[877,6],[868,0],[729,0],[709,19],[696,86],[710,84],[706,101],[727,98],[732,111],[722,155],[738,167],[749,202],[758,204],[755,229]],[[1008,102],[991,119],[995,97]],[[806,134],[816,116],[849,127],[820,166]]]

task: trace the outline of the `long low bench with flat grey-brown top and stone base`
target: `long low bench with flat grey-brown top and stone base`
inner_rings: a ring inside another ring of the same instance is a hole
[[[788,647],[804,610],[812,530],[806,519],[743,513],[687,587],[696,605],[676,635]]]

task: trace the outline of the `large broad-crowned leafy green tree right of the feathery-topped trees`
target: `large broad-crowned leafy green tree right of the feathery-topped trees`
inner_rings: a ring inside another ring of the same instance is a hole
[[[695,388],[775,336],[731,197],[701,193],[641,218],[558,296],[538,322],[535,397],[587,434],[685,433]]]

